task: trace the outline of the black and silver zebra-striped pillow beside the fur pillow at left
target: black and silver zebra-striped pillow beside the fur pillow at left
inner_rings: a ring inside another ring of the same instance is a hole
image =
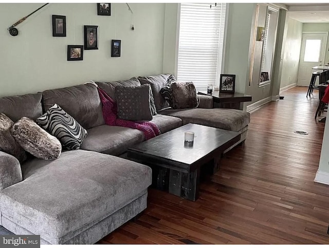
[[[87,131],[59,105],[53,104],[36,122],[57,137],[68,150],[78,150],[87,136]]]

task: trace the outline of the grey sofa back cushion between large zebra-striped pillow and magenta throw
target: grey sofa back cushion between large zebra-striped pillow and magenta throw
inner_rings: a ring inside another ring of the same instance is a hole
[[[42,92],[42,96],[45,111],[57,103],[85,129],[97,127],[105,123],[102,103],[98,90],[93,84],[81,84],[47,90]]]

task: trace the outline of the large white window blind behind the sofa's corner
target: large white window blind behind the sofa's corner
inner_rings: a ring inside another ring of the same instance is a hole
[[[222,67],[225,12],[225,3],[181,3],[178,81],[192,81],[198,90],[217,83]]]

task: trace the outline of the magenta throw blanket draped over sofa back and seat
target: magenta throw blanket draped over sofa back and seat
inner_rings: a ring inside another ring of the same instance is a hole
[[[103,105],[103,117],[105,123],[109,126],[120,126],[126,128],[138,129],[144,133],[145,139],[148,140],[161,132],[158,127],[149,121],[134,122],[131,120],[122,120],[117,118],[117,103],[109,97],[105,91],[97,87],[98,94]]]

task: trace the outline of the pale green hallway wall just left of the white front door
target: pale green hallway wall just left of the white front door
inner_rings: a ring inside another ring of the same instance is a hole
[[[292,84],[297,85],[302,30],[303,23],[288,19],[280,88]]]

